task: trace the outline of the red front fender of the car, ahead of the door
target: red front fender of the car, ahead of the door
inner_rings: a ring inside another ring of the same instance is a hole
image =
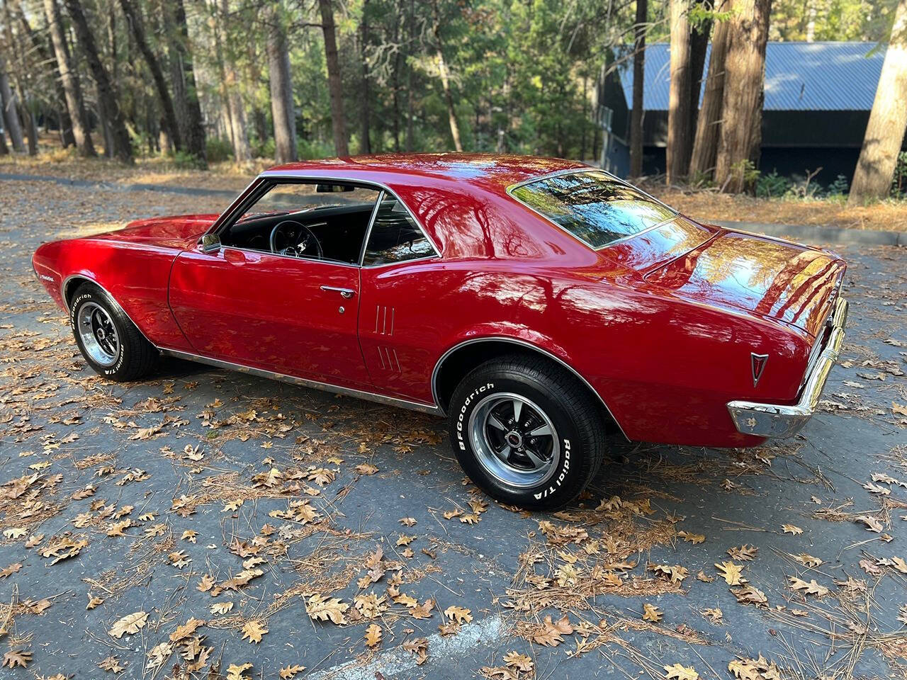
[[[75,238],[46,243],[32,258],[35,274],[57,305],[84,277],[104,288],[154,345],[190,349],[167,302],[173,260],[180,248],[116,238]],[[63,290],[65,284],[65,291]]]

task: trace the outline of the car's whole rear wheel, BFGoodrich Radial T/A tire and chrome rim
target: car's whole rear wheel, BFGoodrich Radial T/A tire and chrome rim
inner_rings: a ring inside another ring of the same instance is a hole
[[[544,357],[504,356],[463,378],[450,406],[453,452],[490,496],[523,508],[575,500],[604,457],[585,385]]]

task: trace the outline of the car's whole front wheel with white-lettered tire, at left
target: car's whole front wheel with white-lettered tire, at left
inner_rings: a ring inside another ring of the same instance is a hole
[[[157,349],[101,287],[78,287],[69,318],[75,343],[96,373],[116,381],[136,380],[157,362]]]

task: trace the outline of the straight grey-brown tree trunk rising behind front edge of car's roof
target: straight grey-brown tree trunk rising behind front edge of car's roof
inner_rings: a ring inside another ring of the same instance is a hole
[[[296,111],[293,107],[293,82],[289,71],[287,30],[281,16],[274,12],[268,26],[268,79],[271,88],[271,117],[274,119],[274,160],[297,160]]]

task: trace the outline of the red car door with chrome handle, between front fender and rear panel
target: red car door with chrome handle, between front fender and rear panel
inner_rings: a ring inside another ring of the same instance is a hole
[[[260,209],[249,206],[247,214]],[[358,253],[359,246],[353,248]],[[357,261],[289,256],[228,241],[211,252],[196,248],[177,257],[169,301],[199,355],[329,384],[371,384],[357,337]]]

